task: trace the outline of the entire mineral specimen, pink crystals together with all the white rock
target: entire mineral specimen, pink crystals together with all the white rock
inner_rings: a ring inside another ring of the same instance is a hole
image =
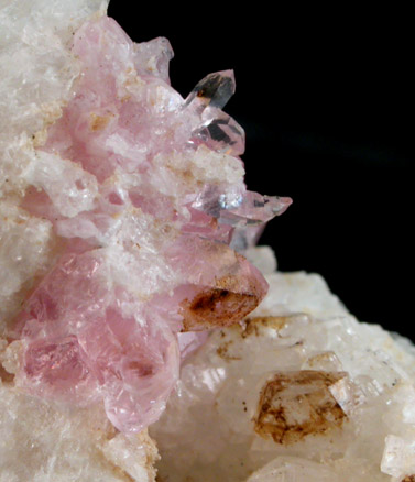
[[[254,248],[233,73],[98,0],[0,29],[0,482],[154,481],[149,426],[163,481],[413,480],[415,350]]]

